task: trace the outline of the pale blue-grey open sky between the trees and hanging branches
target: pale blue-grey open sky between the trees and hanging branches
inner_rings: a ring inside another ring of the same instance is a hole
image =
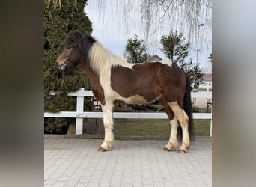
[[[134,34],[138,34],[138,39],[144,40],[144,33],[143,29],[137,27],[136,20],[133,20],[134,24],[132,24],[130,27],[127,27],[125,25],[125,22],[122,22],[121,16],[118,16],[117,13],[114,13],[115,16],[113,16],[113,7],[112,10],[108,10],[108,7],[106,7],[106,10],[103,13],[98,13],[97,7],[95,7],[96,4],[94,1],[89,0],[88,5],[85,7],[85,13],[89,17],[89,19],[92,22],[92,36],[95,37],[100,43],[103,44],[104,47],[109,49],[111,52],[113,52],[115,55],[123,56],[126,41],[128,38],[134,37]],[[139,10],[136,12],[139,13]],[[140,16],[138,16],[138,19]],[[162,31],[162,33],[168,34],[169,30],[166,29],[166,31]],[[209,35],[209,34],[208,34]],[[149,40],[154,40],[155,43],[151,44],[150,46],[147,46],[148,52],[150,55],[159,55],[159,57],[166,59],[165,56],[160,51],[159,47],[159,40],[162,35],[159,36],[152,36],[150,35]],[[201,50],[198,52],[198,63],[200,63],[201,68],[204,69],[205,73],[211,72],[211,62],[209,57],[210,53],[212,53],[212,47],[211,47],[211,33],[210,37],[207,38],[208,43],[202,43],[199,45],[199,49]],[[209,44],[210,41],[210,44]],[[193,62],[196,62],[196,48],[191,49],[189,51],[189,56],[186,58],[187,61],[192,58]]]

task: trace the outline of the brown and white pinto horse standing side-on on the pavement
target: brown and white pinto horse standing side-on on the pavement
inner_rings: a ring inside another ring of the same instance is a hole
[[[90,80],[91,90],[103,110],[105,138],[99,150],[113,147],[113,107],[115,101],[144,104],[162,99],[171,125],[171,135],[164,150],[176,150],[177,135],[182,143],[178,153],[186,153],[192,137],[192,102],[189,77],[177,64],[168,60],[131,64],[104,48],[94,37],[70,31],[64,51],[56,65],[60,77],[72,74],[82,65]],[[177,130],[178,128],[182,131]]]

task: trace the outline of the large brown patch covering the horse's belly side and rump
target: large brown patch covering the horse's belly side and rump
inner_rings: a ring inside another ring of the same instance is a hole
[[[182,106],[186,79],[180,73],[183,70],[176,64],[169,67],[160,62],[135,64],[132,69],[115,66],[111,70],[111,86],[124,98],[138,95],[143,96],[147,102],[152,102],[157,97],[164,96],[167,102],[177,101]]]

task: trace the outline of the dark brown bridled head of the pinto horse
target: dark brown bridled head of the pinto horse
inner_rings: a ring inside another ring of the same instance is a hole
[[[57,76],[59,78],[71,75],[79,66],[81,61],[81,39],[82,34],[77,31],[68,33],[67,40],[64,43],[64,50],[56,60]]]

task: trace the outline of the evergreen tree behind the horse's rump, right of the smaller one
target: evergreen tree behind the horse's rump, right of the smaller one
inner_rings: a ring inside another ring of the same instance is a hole
[[[185,38],[182,33],[170,31],[167,36],[162,36],[160,43],[162,44],[161,51],[165,56],[183,69],[191,79],[194,90],[196,90],[203,81],[203,69],[199,67],[198,63],[193,63],[192,59],[185,62],[188,55],[189,43],[184,43]]]

